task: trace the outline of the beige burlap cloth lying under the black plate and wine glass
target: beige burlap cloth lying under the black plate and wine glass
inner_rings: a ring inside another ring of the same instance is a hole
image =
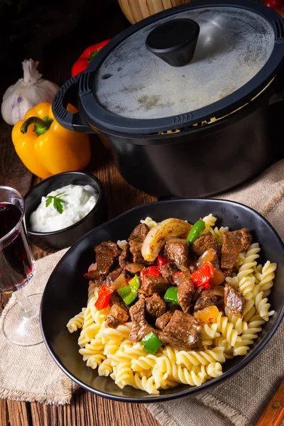
[[[284,160],[275,163],[249,185],[217,198],[253,207],[271,222],[284,239]],[[35,276],[26,287],[28,294],[43,290],[65,251],[36,262]],[[14,303],[12,296],[2,316]],[[284,376],[283,332],[284,322],[256,359],[212,391],[170,403],[151,404],[148,410],[162,426],[254,425]],[[1,398],[50,404],[70,403],[77,386],[58,368],[44,344],[16,346],[9,344],[1,333],[0,353]]]

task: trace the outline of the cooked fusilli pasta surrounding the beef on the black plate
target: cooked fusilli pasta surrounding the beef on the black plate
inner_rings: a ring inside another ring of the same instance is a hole
[[[211,232],[220,244],[227,227],[215,226],[213,214],[203,218],[205,229]],[[149,228],[157,225],[151,217],[141,220]],[[119,240],[121,249],[126,240]],[[217,322],[202,325],[204,350],[185,351],[162,346],[155,355],[147,354],[139,343],[129,340],[131,322],[114,328],[106,327],[105,320],[110,307],[97,310],[94,306],[98,293],[89,281],[87,307],[67,323],[68,330],[80,331],[78,344],[80,354],[87,366],[98,368],[99,376],[110,376],[119,388],[133,386],[149,394],[158,394],[160,389],[178,386],[180,383],[200,386],[209,378],[222,375],[226,359],[244,355],[255,342],[261,326],[274,311],[269,311],[267,296],[271,293],[277,265],[267,261],[257,264],[259,245],[251,244],[246,253],[240,253],[234,265],[235,271],[226,282],[236,285],[246,298],[243,318],[234,315],[228,308],[219,312]],[[90,268],[95,268],[93,264]]]

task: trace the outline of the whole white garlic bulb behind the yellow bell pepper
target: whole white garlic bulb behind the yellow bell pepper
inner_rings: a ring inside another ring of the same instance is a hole
[[[40,102],[52,102],[59,87],[48,80],[43,80],[36,67],[38,62],[24,60],[23,78],[20,78],[4,93],[1,114],[8,124],[16,124],[22,120],[28,109]]]

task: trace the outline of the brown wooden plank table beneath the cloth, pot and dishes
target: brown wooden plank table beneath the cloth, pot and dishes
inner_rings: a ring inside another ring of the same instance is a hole
[[[36,181],[21,163],[11,143],[11,126],[0,125],[0,185],[16,188],[25,195]],[[156,199],[131,187],[111,162],[109,155],[97,136],[92,136],[92,160],[87,170],[92,171],[104,186],[109,204],[109,219],[131,207]],[[35,258],[45,256],[33,247]],[[0,312],[8,301],[0,295]],[[24,362],[24,360],[23,360]],[[40,403],[18,403],[0,399],[1,426],[158,426],[143,405],[117,403],[87,391],[77,391],[70,405],[56,407]]]

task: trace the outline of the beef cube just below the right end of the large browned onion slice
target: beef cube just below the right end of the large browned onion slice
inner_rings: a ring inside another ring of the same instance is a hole
[[[178,268],[187,271],[190,267],[190,249],[188,241],[181,238],[171,238],[165,243],[165,252]]]

